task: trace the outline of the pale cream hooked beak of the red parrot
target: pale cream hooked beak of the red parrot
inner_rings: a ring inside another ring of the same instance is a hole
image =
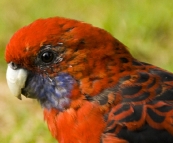
[[[25,87],[25,82],[27,79],[27,71],[22,68],[13,69],[12,66],[8,64],[6,78],[7,84],[10,88],[11,93],[18,99],[21,98],[21,89]]]

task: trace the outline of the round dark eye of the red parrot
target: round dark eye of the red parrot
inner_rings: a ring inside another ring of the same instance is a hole
[[[40,58],[44,63],[50,63],[54,60],[54,53],[52,51],[44,51],[41,53]]]

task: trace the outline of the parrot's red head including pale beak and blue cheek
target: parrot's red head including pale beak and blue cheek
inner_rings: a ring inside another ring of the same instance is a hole
[[[63,110],[71,98],[97,95],[132,57],[108,32],[65,18],[39,19],[21,28],[6,47],[11,92]],[[124,70],[125,71],[125,70]]]

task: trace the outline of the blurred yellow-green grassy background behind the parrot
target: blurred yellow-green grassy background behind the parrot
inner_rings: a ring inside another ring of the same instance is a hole
[[[61,16],[103,28],[134,57],[173,71],[172,0],[1,0],[0,142],[55,143],[42,109],[33,100],[12,97],[5,81],[5,46],[19,28],[38,18]],[[70,128],[70,127],[69,127]]]

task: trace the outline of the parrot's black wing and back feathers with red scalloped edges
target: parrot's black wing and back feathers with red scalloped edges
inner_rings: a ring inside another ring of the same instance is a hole
[[[121,97],[121,102],[107,114],[105,136],[130,143],[171,143],[173,74],[152,65],[138,64],[135,74],[121,78],[114,87],[114,94]]]

